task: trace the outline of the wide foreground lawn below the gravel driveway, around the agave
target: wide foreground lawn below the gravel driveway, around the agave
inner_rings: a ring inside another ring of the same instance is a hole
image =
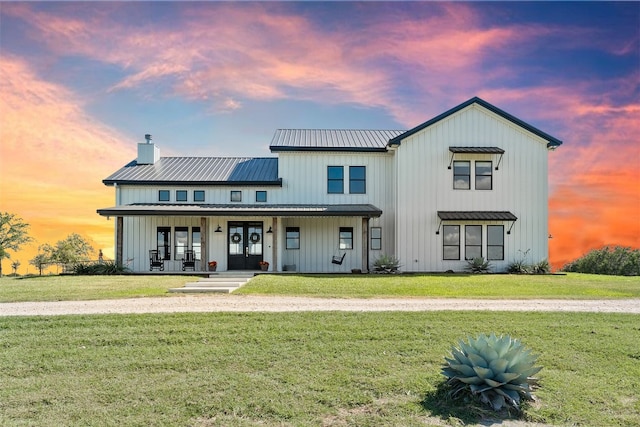
[[[462,425],[440,365],[493,331],[544,366],[524,419],[640,425],[640,316],[504,312],[0,317],[0,425]]]

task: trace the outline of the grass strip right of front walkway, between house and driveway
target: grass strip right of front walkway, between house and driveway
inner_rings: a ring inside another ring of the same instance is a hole
[[[640,298],[640,277],[567,275],[261,275],[236,294],[337,298]]]

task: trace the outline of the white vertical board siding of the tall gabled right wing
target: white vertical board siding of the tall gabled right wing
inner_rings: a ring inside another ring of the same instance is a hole
[[[446,222],[462,225],[504,225],[505,260],[492,261],[495,270],[529,251],[528,262],[548,257],[547,141],[481,106],[471,105],[405,140],[396,151],[396,246],[405,271],[460,271],[465,261],[444,261],[442,226],[438,211],[510,211],[511,222]],[[453,189],[450,146],[499,147],[500,155],[456,154],[454,160],[471,161],[470,190]],[[475,190],[474,163],[492,161],[493,189]],[[460,241],[464,258],[464,227]],[[483,227],[486,257],[486,227]]]

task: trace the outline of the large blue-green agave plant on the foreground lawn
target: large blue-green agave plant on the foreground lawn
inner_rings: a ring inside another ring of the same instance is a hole
[[[509,406],[519,409],[521,398],[534,399],[531,387],[538,380],[531,376],[542,369],[534,366],[538,356],[508,335],[480,334],[468,339],[468,343],[459,340],[459,348],[454,346],[451,357],[445,357],[442,374],[452,387],[452,397],[469,391],[495,411]]]

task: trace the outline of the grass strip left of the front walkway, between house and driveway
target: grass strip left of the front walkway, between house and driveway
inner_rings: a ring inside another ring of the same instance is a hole
[[[191,276],[34,276],[0,279],[0,303],[167,296]]]

